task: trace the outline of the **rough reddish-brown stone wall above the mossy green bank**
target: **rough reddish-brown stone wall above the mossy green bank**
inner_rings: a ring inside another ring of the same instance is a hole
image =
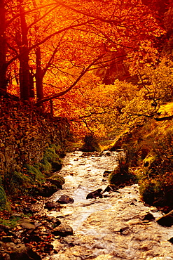
[[[0,96],[0,175],[38,163],[50,144],[65,148],[69,123],[29,103]]]

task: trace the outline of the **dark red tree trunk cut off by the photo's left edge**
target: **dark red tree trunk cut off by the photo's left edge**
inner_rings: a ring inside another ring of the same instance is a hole
[[[0,88],[6,91],[6,9],[0,0]]]

